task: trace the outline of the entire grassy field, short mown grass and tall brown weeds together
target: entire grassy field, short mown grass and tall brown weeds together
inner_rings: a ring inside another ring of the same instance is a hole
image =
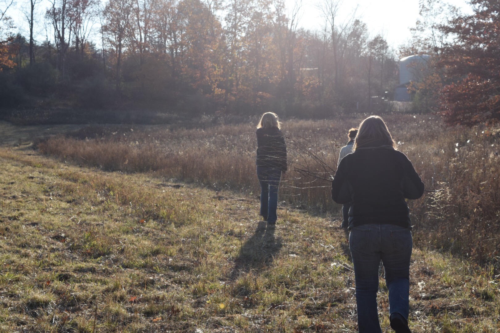
[[[0,332],[355,332],[339,207],[320,178],[361,118],[283,124],[275,229],[258,219],[253,122],[85,127],[0,148]],[[494,131],[384,119],[439,190],[409,202],[410,328],[498,332]],[[383,279],[379,306],[391,332]]]

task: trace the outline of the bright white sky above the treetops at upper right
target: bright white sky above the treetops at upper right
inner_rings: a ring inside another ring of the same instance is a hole
[[[291,10],[295,0],[285,0]],[[342,1],[342,0],[340,0]],[[462,9],[470,11],[470,6],[465,0],[443,0]],[[317,5],[322,0],[302,0],[302,17],[299,26],[306,29],[320,29],[324,24],[321,11]],[[404,44],[410,37],[410,27],[415,26],[418,18],[419,0],[343,0],[339,19],[350,16],[353,8],[358,4],[356,16],[366,23],[371,35],[381,34],[389,45],[397,48]]]

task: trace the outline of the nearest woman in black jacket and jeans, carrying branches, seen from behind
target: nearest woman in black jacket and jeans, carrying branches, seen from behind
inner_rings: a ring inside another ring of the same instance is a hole
[[[405,199],[418,199],[423,183],[408,158],[395,150],[382,118],[370,116],[359,125],[353,153],[338,165],[331,197],[349,209],[349,249],[356,283],[360,333],[381,333],[376,293],[378,266],[384,266],[389,292],[390,327],[408,328],[409,262],[412,239]]]

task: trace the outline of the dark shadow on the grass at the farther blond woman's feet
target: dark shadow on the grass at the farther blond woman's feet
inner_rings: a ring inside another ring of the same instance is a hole
[[[236,279],[241,273],[260,271],[271,265],[282,244],[280,238],[274,238],[274,227],[266,225],[266,222],[259,221],[255,233],[241,245],[230,280]]]

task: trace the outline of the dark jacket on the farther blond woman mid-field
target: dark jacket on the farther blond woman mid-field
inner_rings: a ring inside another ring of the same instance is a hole
[[[277,168],[286,171],[286,145],[281,131],[275,127],[258,128],[257,166]]]

